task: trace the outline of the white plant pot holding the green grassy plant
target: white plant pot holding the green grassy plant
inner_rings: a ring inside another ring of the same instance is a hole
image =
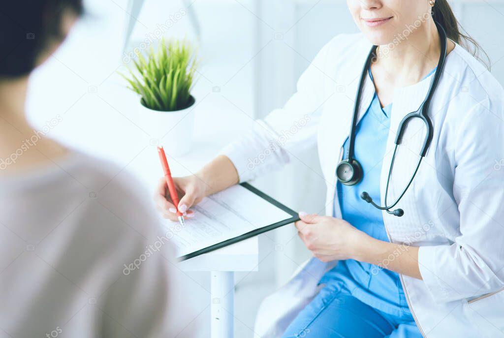
[[[140,126],[163,146],[167,155],[187,154],[193,146],[195,102],[191,96],[186,108],[174,111],[149,109],[140,102]]]

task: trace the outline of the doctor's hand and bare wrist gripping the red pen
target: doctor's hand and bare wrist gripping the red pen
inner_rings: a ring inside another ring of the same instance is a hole
[[[173,177],[178,193],[178,211],[184,217],[194,217],[191,207],[197,205],[205,196],[224,190],[238,183],[238,173],[231,160],[224,155],[217,156],[197,173],[183,177]],[[164,218],[177,221],[177,210],[170,198],[165,177],[159,180],[154,193],[156,209]]]

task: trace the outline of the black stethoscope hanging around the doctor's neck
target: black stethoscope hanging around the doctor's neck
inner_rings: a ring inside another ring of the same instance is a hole
[[[437,22],[435,23],[437,27],[437,31],[439,32],[439,40],[440,40],[440,45],[441,45],[441,53],[439,55],[439,61],[437,63],[437,69],[434,74],[434,78],[432,79],[429,87],[429,91],[427,93],[427,96],[423,100],[420,108],[418,110],[411,112],[407,114],[399,123],[398,126],[398,132],[395,140],[395,148],[394,148],[394,154],[392,155],[392,161],[390,163],[390,168],[389,168],[389,175],[387,178],[387,187],[385,189],[385,206],[380,206],[376,205],[371,196],[366,191],[363,191],[360,194],[360,198],[365,200],[366,202],[370,203],[373,207],[380,209],[380,210],[386,210],[389,214],[392,214],[394,216],[401,217],[404,215],[404,211],[402,209],[396,209],[394,211],[390,211],[392,208],[394,208],[398,202],[401,200],[403,195],[405,194],[406,190],[408,190],[409,186],[411,185],[411,182],[413,182],[413,179],[415,178],[415,175],[418,171],[418,167],[420,167],[420,163],[422,162],[422,158],[425,157],[425,154],[427,153],[427,149],[430,146],[430,142],[432,141],[432,121],[427,115],[427,111],[429,108],[430,100],[432,99],[432,96],[434,94],[434,91],[437,87],[437,84],[439,82],[439,78],[441,76],[441,73],[443,72],[443,67],[445,66],[445,60],[446,60],[446,55],[447,55],[447,36],[446,32],[443,29],[441,25],[439,25]],[[367,72],[369,71],[369,67],[371,66],[371,61],[376,55],[376,48],[377,46],[372,46],[371,51],[369,52],[369,55],[367,56],[366,63],[364,64],[364,69],[362,70],[362,75],[360,77],[360,83],[359,83],[359,88],[357,90],[357,96],[355,98],[355,108],[353,111],[353,118],[352,118],[352,124],[350,126],[350,136],[349,136],[349,144],[348,144],[348,149],[347,149],[347,156],[346,159],[342,160],[338,166],[336,167],[336,176],[338,177],[338,180],[345,185],[355,185],[360,182],[363,176],[362,172],[362,167],[357,161],[357,159],[354,157],[354,144],[355,144],[355,127],[357,125],[357,115],[359,113],[359,104],[360,104],[360,98],[362,95],[362,88],[364,86],[364,81],[367,77]],[[413,118],[420,118],[423,123],[425,124],[426,127],[426,136],[423,141],[423,145],[420,151],[420,159],[418,160],[418,164],[416,166],[415,171],[413,172],[413,176],[411,176],[411,179],[409,180],[408,184],[406,185],[406,188],[404,188],[403,192],[399,195],[399,197],[396,199],[396,201],[388,206],[387,205],[387,194],[389,191],[389,182],[390,182],[390,176],[392,173],[392,168],[394,165],[394,160],[396,158],[396,151],[397,151],[397,146],[401,144],[401,140],[404,134],[404,130],[406,128],[407,122]]]

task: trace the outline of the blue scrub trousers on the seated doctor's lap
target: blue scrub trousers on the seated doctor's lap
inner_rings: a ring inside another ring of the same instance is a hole
[[[421,338],[414,321],[404,322],[346,292],[323,288],[292,321],[283,338]]]

